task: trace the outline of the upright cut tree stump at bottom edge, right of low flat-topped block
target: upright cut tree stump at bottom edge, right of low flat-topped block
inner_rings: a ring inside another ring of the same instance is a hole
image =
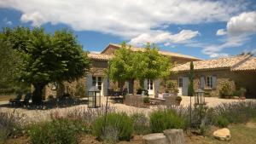
[[[169,144],[185,143],[183,130],[181,129],[164,130],[164,135],[166,135],[166,140]]]

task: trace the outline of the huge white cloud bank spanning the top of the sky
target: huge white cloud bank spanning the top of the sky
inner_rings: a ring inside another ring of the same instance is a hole
[[[130,39],[172,24],[226,21],[242,4],[202,0],[4,0],[0,8],[20,10],[32,26],[66,24],[77,31],[109,33]],[[165,36],[163,36],[165,37]]]

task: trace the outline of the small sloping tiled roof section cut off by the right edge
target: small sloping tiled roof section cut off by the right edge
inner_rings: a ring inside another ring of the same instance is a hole
[[[241,65],[232,68],[232,71],[256,71],[256,57],[251,57]]]

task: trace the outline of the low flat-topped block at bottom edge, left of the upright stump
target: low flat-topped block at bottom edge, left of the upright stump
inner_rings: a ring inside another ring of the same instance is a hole
[[[166,136],[163,133],[144,135],[143,144],[167,144]]]

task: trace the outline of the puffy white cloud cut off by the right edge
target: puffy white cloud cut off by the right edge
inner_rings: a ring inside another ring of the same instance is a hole
[[[227,23],[231,36],[252,34],[256,32],[256,12],[245,12],[232,17]]]

